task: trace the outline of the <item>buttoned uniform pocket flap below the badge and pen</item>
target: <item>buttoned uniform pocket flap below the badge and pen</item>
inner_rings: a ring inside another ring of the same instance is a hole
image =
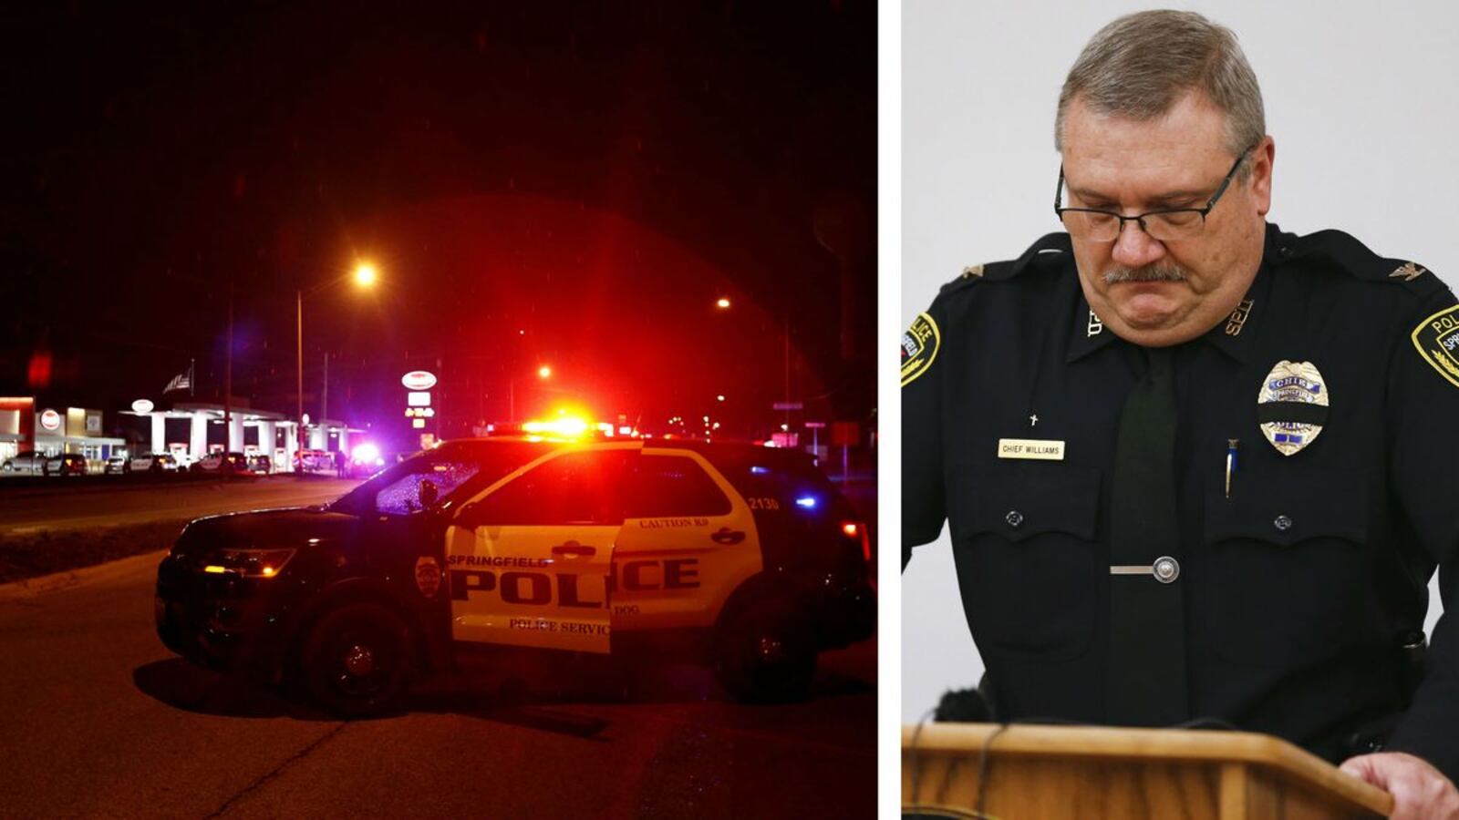
[[[1253,538],[1281,546],[1307,538],[1367,538],[1367,479],[1361,473],[1236,476],[1207,490],[1205,541]]]

